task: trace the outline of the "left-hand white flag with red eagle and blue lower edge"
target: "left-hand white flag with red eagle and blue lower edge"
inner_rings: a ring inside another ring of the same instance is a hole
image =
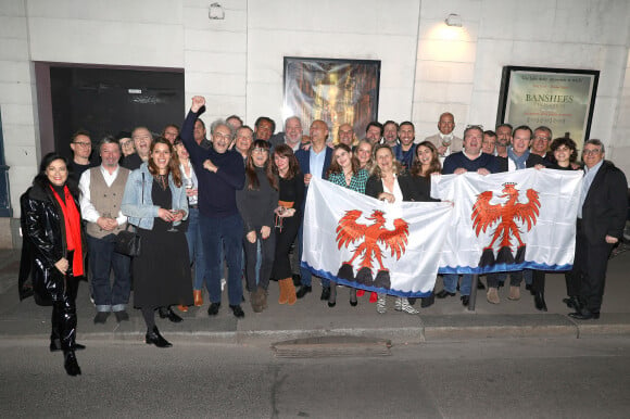
[[[452,211],[444,202],[389,204],[313,178],[302,265],[344,285],[428,296]]]

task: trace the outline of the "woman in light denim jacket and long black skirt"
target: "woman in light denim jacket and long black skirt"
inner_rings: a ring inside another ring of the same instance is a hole
[[[134,257],[134,305],[147,323],[146,342],[173,346],[155,326],[160,317],[180,322],[172,305],[192,305],[188,244],[178,229],[188,217],[186,189],[173,144],[162,137],[152,144],[149,161],[131,172],[125,186],[123,214],[138,228],[140,255]]]

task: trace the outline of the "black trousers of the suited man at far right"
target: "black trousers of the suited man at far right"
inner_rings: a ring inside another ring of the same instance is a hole
[[[592,244],[587,240],[581,223],[578,223],[576,233],[576,257],[574,269],[567,277],[567,293],[569,296],[579,296],[585,307],[592,313],[600,313],[604,285],[606,284],[606,269],[613,244]]]

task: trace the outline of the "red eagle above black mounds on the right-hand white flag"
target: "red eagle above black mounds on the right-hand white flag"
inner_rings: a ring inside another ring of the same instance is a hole
[[[516,221],[520,221],[529,231],[538,219],[540,200],[536,190],[527,190],[528,202],[522,204],[518,202],[519,191],[516,189],[516,183],[507,182],[503,183],[503,194],[499,195],[499,198],[507,199],[503,204],[491,204],[490,201],[493,198],[493,193],[492,191],[486,191],[477,196],[477,201],[472,205],[470,219],[477,237],[479,237],[481,230],[486,232],[489,228],[496,226],[492,232],[492,241],[483,250],[481,266],[494,263],[514,263],[515,261],[521,263],[525,259],[526,243],[520,240],[520,230]],[[512,237],[518,241],[516,259],[513,257],[511,250]],[[497,240],[500,241],[500,249],[496,259],[494,259],[492,250]]]

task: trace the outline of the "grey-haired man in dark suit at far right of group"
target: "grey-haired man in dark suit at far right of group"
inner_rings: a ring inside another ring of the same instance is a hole
[[[628,182],[615,165],[604,160],[600,140],[584,143],[584,180],[578,207],[576,257],[567,278],[568,299],[575,308],[569,316],[580,320],[598,319],[608,256],[623,234],[628,211]]]

